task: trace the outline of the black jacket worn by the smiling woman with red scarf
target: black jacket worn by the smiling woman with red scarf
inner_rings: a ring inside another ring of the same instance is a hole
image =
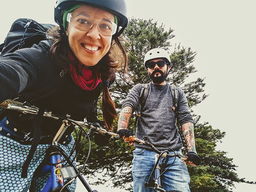
[[[63,68],[50,58],[49,49],[49,45],[42,41],[32,48],[0,57],[0,102],[18,95],[20,101],[43,106],[53,114],[65,116],[68,113],[73,120],[87,118],[87,121],[96,121],[97,99],[103,83],[92,91],[86,91],[77,86],[69,75],[61,77]],[[30,131],[35,119],[15,111],[9,111],[6,116],[15,128],[25,132]],[[59,121],[43,118],[42,135],[56,133],[60,124]]]

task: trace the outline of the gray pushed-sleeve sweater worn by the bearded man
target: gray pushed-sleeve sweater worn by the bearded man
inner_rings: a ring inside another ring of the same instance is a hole
[[[132,112],[138,109],[139,96],[142,84],[136,84],[123,102],[123,107],[130,106]],[[142,139],[147,136],[149,143],[161,144],[178,150],[182,147],[182,141],[176,126],[176,113],[172,110],[173,99],[169,84],[157,85],[152,82],[148,86],[148,97],[141,116],[138,120],[136,137]],[[188,102],[184,92],[178,87],[178,121],[180,125],[192,122],[193,117],[188,110]],[[136,147],[150,149],[147,146],[135,143]],[[168,148],[157,147],[159,150]]]

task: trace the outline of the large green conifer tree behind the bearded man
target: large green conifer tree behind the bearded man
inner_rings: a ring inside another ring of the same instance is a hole
[[[121,71],[117,72],[117,79],[110,87],[110,92],[115,99],[117,111],[120,111],[123,99],[129,90],[137,83],[148,83],[150,79],[143,65],[146,52],[153,48],[170,48],[171,40],[174,37],[173,29],[165,30],[165,26],[158,25],[153,19],[143,20],[132,18],[124,33],[124,45],[128,53],[128,71],[125,79]],[[173,45],[174,50],[170,53],[172,67],[170,69],[167,82],[181,87],[188,99],[189,108],[193,113],[192,107],[201,103],[207,98],[204,93],[204,79],[197,78],[192,82],[186,79],[190,74],[195,73],[193,66],[196,52],[191,48],[181,45]],[[101,112],[99,112],[100,116]],[[243,178],[238,178],[234,172],[236,165],[232,158],[226,157],[226,152],[216,151],[215,147],[224,136],[225,132],[213,129],[208,123],[199,123],[200,116],[193,114],[195,118],[195,138],[196,149],[202,157],[202,165],[193,167],[188,166],[191,176],[192,192],[227,192],[231,191],[234,182],[246,182]],[[129,122],[129,129],[133,130],[134,118]],[[114,123],[114,131],[117,122]],[[87,151],[88,146],[84,146],[83,151]],[[88,169],[84,174],[91,177],[97,176],[96,173],[103,171],[103,176],[98,178],[95,184],[113,181],[113,187],[119,187],[132,191],[132,151],[127,143],[118,139],[110,139],[105,147],[98,147],[93,144]],[[184,150],[186,153],[186,149]],[[86,155],[79,155],[78,162],[82,163]]]

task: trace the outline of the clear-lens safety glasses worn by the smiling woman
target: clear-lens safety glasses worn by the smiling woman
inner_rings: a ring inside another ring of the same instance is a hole
[[[97,25],[99,33],[104,36],[110,36],[116,33],[116,23],[108,19],[94,19],[87,14],[82,13],[68,13],[67,22],[74,26],[76,29],[82,31],[90,30],[94,24]]]

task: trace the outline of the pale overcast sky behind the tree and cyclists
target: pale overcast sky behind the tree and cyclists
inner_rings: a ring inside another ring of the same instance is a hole
[[[53,23],[55,0],[1,1],[0,42],[17,18]],[[218,150],[233,158],[239,177],[256,181],[255,173],[255,7],[253,0],[127,0],[128,17],[153,18],[174,29],[174,46],[197,52],[198,72],[191,78],[205,79],[210,96],[193,108],[213,128],[226,132]],[[255,192],[256,185],[237,184],[234,192]],[[121,192],[121,189],[98,191]],[[76,191],[83,191],[80,187]]]

